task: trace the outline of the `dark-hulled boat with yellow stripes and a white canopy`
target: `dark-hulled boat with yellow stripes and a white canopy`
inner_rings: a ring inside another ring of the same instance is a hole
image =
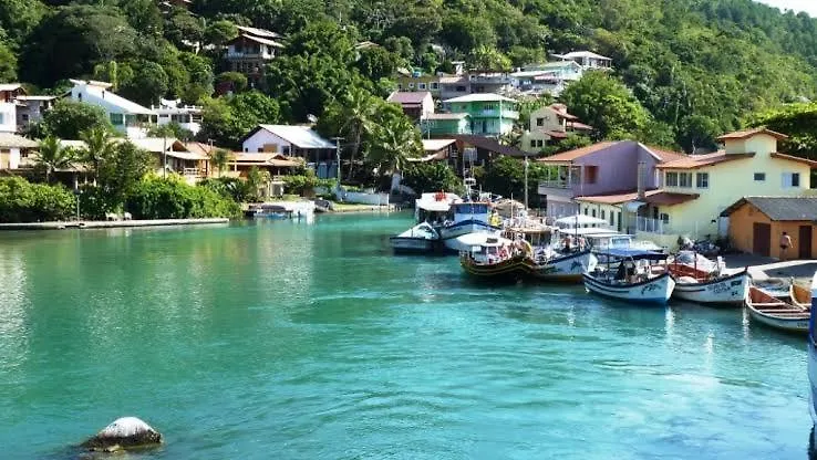
[[[459,253],[459,264],[469,275],[519,281],[532,270],[529,244],[487,233],[470,233],[458,240],[468,247],[468,250]]]

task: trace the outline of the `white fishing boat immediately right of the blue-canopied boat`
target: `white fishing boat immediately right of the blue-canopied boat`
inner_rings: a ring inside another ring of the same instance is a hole
[[[694,251],[681,251],[668,265],[675,279],[673,297],[703,304],[742,305],[752,284],[748,269],[725,274],[723,259],[713,262]]]

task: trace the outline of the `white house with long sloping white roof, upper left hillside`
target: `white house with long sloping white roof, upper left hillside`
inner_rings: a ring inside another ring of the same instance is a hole
[[[73,101],[102,107],[114,128],[130,138],[145,137],[149,125],[156,123],[155,111],[107,91],[111,87],[110,83],[83,80],[71,80],[71,83],[74,84],[71,88]]]

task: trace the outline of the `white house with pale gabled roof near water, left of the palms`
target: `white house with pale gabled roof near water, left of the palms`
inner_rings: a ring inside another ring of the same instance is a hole
[[[258,125],[241,143],[245,153],[282,154],[307,160],[318,177],[338,177],[337,147],[309,126]]]

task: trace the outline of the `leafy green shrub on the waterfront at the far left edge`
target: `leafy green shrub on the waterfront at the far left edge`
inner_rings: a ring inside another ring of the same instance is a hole
[[[0,222],[45,222],[74,217],[76,198],[63,186],[0,179]]]

